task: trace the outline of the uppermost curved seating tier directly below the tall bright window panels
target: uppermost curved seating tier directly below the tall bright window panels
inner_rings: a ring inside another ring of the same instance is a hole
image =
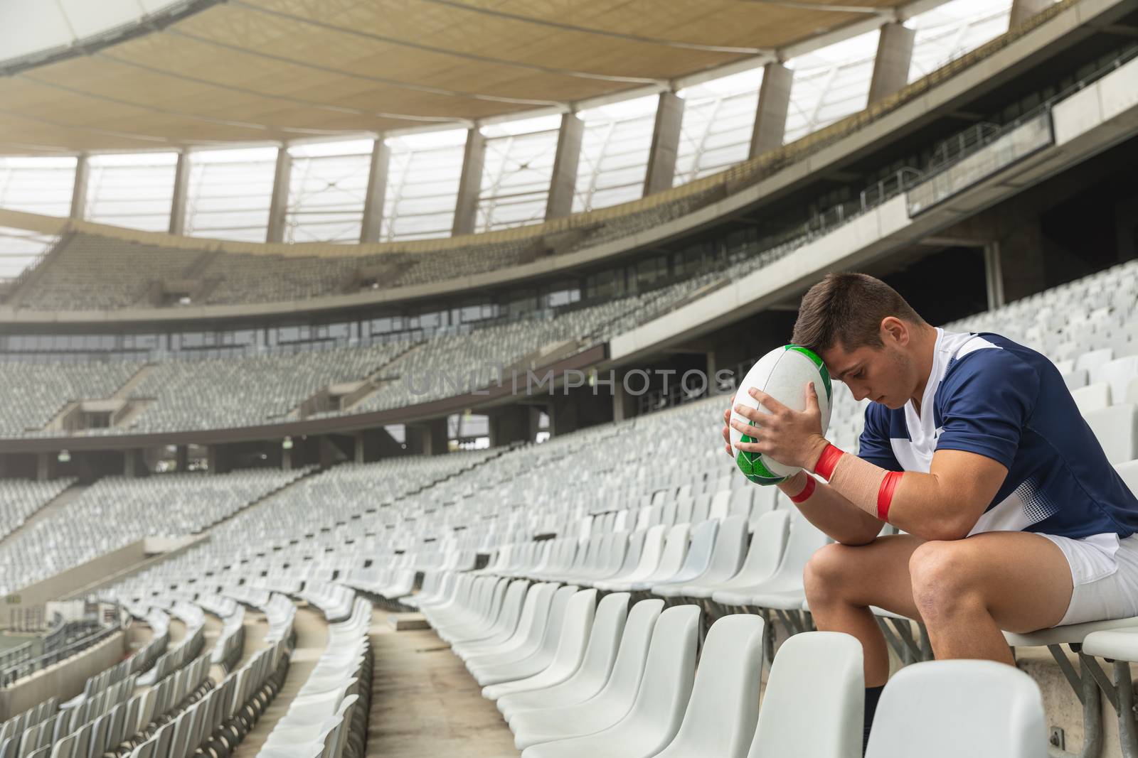
[[[1122,10],[1064,0],[867,109],[726,172],[636,202],[446,240],[255,244],[133,232],[0,210],[5,226],[59,235],[9,289],[0,323],[188,322],[345,310],[550,277],[681,240],[841,174],[882,145],[960,110],[1056,43]],[[917,178],[894,177],[901,188]],[[880,202],[888,182],[861,199]]]

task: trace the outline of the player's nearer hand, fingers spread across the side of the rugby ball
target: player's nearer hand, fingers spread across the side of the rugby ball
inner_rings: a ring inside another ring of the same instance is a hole
[[[751,397],[759,401],[769,414],[748,406],[735,406],[735,413],[751,423],[731,419],[732,428],[741,432],[754,442],[740,442],[737,450],[761,452],[770,456],[784,466],[799,466],[814,470],[818,457],[826,448],[826,439],[822,436],[822,411],[818,408],[818,393],[814,383],[806,385],[806,410],[791,410],[769,394],[752,389]]]

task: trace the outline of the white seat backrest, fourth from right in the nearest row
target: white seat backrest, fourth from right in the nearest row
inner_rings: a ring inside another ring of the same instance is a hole
[[[643,755],[655,755],[679,731],[695,678],[699,626],[699,606],[668,608],[655,624],[636,700],[618,725],[637,726]]]

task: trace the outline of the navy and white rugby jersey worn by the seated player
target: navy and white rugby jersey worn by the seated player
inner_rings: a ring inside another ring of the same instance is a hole
[[[1073,539],[1138,531],[1138,499],[1106,459],[1050,360],[998,334],[937,330],[917,415],[909,400],[865,410],[859,457],[927,472],[937,450],[1007,467],[971,534],[1025,531]]]

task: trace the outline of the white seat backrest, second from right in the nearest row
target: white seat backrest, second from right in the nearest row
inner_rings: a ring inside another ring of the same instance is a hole
[[[783,642],[748,758],[860,758],[861,668],[861,643],[848,634],[806,632]]]

